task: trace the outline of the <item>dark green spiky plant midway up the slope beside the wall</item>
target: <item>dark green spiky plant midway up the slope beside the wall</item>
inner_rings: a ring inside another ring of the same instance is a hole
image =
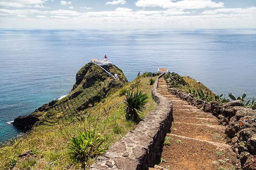
[[[142,91],[135,93],[130,90],[127,91],[124,99],[126,119],[133,121],[140,120],[138,113],[144,111],[146,108],[147,99],[148,96],[142,93]]]

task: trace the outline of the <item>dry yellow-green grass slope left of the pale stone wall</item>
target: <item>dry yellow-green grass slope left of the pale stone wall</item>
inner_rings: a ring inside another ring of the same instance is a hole
[[[149,79],[150,77],[141,78],[141,85],[139,87],[143,93],[148,95],[146,109],[139,114],[141,119],[156,107],[156,103],[152,99],[152,86],[150,86]],[[125,85],[125,88],[129,89],[131,83]],[[84,127],[88,128],[89,121],[86,118],[90,115],[90,126],[95,126],[96,122],[98,122],[96,130],[107,137],[107,140],[102,144],[102,147],[108,148],[119,141],[126,133],[136,126],[136,123],[127,121],[125,118],[123,103],[124,96],[120,96],[120,91],[121,89],[112,92],[101,102],[95,103],[88,109],[78,111],[76,117],[82,121],[78,121],[74,116],[69,116],[67,121],[64,121],[63,123],[60,121],[59,125],[55,123],[52,126],[48,126],[42,123],[38,127],[34,127],[25,138],[18,139],[12,146],[0,148],[0,170],[8,169],[9,163],[16,169],[22,169],[24,166],[29,166],[31,169],[48,170],[81,169],[81,163],[72,162],[72,159],[67,154],[64,146],[66,145],[67,140],[63,135],[75,136],[78,134],[79,130],[82,131]],[[77,102],[82,103],[82,100]],[[71,103],[69,103],[69,105],[71,105]],[[75,104],[73,103],[73,105]],[[106,109],[107,107],[111,107],[108,115],[104,114],[104,108]],[[76,107],[72,109],[76,109]],[[70,111],[68,111],[68,113],[70,113]],[[100,116],[98,116],[99,113]],[[18,155],[30,150],[33,154],[30,155],[29,158],[26,156],[18,158]],[[95,159],[89,160],[88,165],[92,164],[94,161]]]

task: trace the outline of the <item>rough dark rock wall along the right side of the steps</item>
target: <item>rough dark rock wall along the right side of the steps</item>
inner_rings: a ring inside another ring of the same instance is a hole
[[[217,101],[207,103],[194,99],[190,93],[169,88],[169,91],[204,112],[210,112],[226,126],[225,133],[230,138],[234,152],[240,159],[244,170],[256,169],[256,111],[245,108],[241,100],[221,104]]]

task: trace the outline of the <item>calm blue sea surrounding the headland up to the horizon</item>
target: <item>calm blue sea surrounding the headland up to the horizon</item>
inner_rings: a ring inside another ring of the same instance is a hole
[[[214,93],[256,95],[256,30],[0,30],[0,141],[8,122],[67,95],[76,72],[105,54],[129,81],[169,68]]]

